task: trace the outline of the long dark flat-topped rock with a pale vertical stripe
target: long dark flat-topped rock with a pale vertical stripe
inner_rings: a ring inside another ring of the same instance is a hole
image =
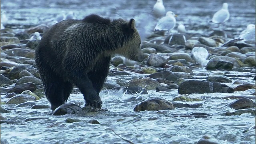
[[[228,93],[234,92],[234,89],[226,84],[220,84],[218,82],[205,82],[200,80],[188,80],[186,82],[182,82],[178,88],[179,94],[203,94],[214,92]]]

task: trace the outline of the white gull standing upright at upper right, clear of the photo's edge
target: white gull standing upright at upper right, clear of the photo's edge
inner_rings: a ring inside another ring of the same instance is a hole
[[[224,3],[222,9],[216,12],[212,17],[212,22],[215,24],[221,24],[229,19],[228,3]]]

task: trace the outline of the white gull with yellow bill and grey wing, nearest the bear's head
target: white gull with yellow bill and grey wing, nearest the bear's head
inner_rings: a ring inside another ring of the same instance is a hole
[[[170,31],[175,27],[176,24],[176,14],[172,11],[166,12],[166,16],[161,18],[156,24],[155,31]]]

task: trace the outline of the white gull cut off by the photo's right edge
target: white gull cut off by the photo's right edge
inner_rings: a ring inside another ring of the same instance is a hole
[[[241,32],[239,38],[243,40],[255,40],[255,25],[249,24],[246,30]]]

